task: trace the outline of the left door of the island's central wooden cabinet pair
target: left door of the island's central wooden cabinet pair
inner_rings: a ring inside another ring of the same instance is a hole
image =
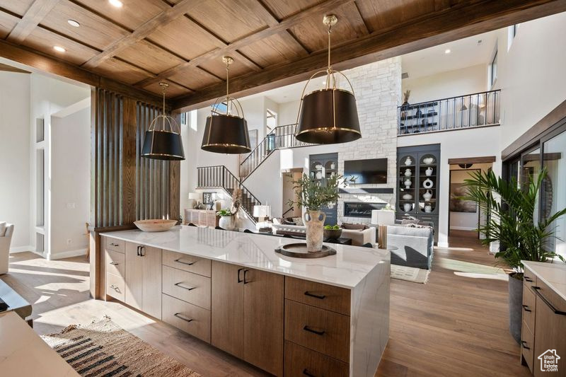
[[[242,359],[243,268],[212,261],[211,283],[211,343]]]

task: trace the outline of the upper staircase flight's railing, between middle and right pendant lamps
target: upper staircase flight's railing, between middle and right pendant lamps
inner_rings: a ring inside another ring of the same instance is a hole
[[[240,180],[245,181],[277,149],[298,148],[313,144],[295,138],[296,124],[275,127],[240,164]]]

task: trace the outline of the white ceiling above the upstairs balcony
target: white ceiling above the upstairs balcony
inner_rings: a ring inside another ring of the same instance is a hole
[[[401,65],[403,72],[409,74],[409,79],[416,79],[467,66],[487,64],[495,52],[496,42],[497,30],[494,30],[405,54],[401,57]],[[446,49],[450,49],[450,54],[444,53]]]

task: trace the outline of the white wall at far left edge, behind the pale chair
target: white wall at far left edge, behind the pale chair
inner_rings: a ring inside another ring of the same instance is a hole
[[[30,249],[30,74],[0,71],[0,221],[11,250]]]

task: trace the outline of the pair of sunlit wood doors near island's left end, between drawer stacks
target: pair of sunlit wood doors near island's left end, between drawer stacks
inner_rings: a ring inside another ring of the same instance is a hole
[[[161,249],[126,243],[125,300],[161,319]]]

